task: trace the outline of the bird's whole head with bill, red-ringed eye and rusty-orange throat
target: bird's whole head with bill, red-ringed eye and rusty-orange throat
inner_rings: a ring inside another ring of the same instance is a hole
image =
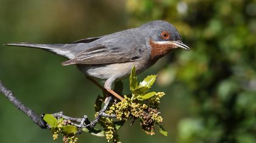
[[[149,37],[149,44],[152,48],[151,56],[160,58],[173,48],[190,48],[183,44],[177,29],[166,21],[151,21],[140,27],[144,36]]]

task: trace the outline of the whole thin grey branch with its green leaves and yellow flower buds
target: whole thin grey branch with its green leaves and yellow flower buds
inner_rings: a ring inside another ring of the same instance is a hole
[[[3,93],[13,105],[29,116],[39,127],[49,128],[54,140],[57,139],[60,134],[63,136],[63,142],[77,142],[75,135],[85,131],[91,133],[91,135],[105,136],[108,142],[118,142],[117,132],[119,128],[124,125],[124,122],[130,119],[132,119],[133,122],[138,119],[142,130],[148,135],[155,134],[155,125],[157,125],[160,133],[167,136],[168,132],[160,125],[160,123],[163,122],[163,118],[158,111],[160,98],[162,98],[165,93],[156,93],[155,91],[148,92],[149,88],[151,88],[152,84],[155,82],[156,75],[147,76],[143,82],[138,82],[135,71],[135,67],[133,67],[130,74],[130,90],[132,91],[133,98],[131,99],[130,97],[124,96],[124,100],[112,102],[113,96],[108,96],[109,93],[102,87],[101,89],[104,96],[98,96],[96,99],[95,109],[98,112],[92,121],[89,121],[87,115],[84,115],[82,118],[74,118],[64,115],[62,111],[52,113],[51,115],[42,114],[39,116],[16,99],[12,91],[4,87],[1,80],[0,93]],[[98,87],[101,87],[98,82],[94,82]],[[112,93],[111,91],[110,93]],[[122,93],[122,82],[115,82],[113,93],[116,93],[116,91]],[[102,107],[103,103],[104,106]],[[108,108],[109,105],[111,105],[110,108]],[[99,107],[102,107],[101,110],[99,110]],[[98,123],[100,123],[101,129],[95,128]]]

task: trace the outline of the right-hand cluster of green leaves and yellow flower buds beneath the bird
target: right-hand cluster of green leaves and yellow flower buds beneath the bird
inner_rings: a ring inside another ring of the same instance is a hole
[[[130,120],[132,122],[138,120],[142,130],[148,135],[155,135],[155,125],[157,125],[159,132],[167,136],[168,132],[160,125],[160,123],[163,122],[163,118],[160,116],[160,111],[158,111],[160,98],[162,98],[165,93],[149,91],[157,76],[147,76],[138,84],[135,71],[135,67],[133,67],[129,78],[130,91],[132,93],[131,97],[125,95],[123,101],[112,104],[106,113],[108,113],[108,115],[115,114],[116,119],[123,121],[123,123]],[[117,130],[113,131],[113,133],[116,133]],[[110,139],[118,141],[118,138],[115,138],[115,136],[111,137],[112,138],[108,138],[108,141]]]

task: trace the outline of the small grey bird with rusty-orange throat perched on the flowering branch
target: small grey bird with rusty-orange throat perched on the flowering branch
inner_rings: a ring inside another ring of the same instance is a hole
[[[104,79],[104,89],[120,100],[124,98],[112,90],[112,84],[129,76],[133,66],[139,74],[175,48],[190,50],[183,44],[176,27],[162,20],[67,44],[17,42],[5,45],[41,48],[64,56],[68,60],[62,65],[75,65],[92,80]]]

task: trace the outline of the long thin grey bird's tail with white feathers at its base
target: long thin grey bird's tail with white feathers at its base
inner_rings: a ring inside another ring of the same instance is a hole
[[[66,58],[73,59],[77,54],[77,50],[75,44],[36,44],[36,43],[26,43],[26,42],[18,42],[18,43],[10,43],[5,44],[15,47],[30,47],[30,48],[41,48],[43,50],[47,50],[49,52],[55,53],[60,56],[65,56]]]

